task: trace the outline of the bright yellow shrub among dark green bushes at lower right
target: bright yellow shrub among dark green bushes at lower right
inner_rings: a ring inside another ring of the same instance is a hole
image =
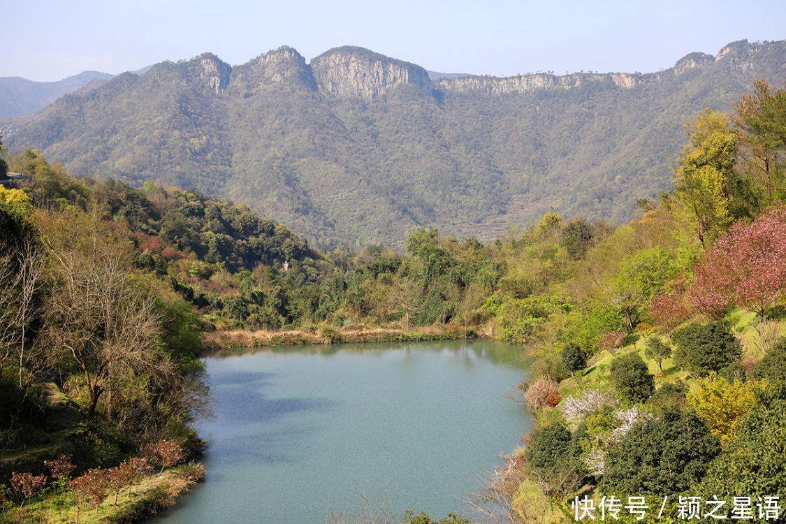
[[[732,440],[742,417],[756,405],[756,392],[764,387],[766,380],[729,382],[713,373],[696,380],[688,403],[723,446]]]

